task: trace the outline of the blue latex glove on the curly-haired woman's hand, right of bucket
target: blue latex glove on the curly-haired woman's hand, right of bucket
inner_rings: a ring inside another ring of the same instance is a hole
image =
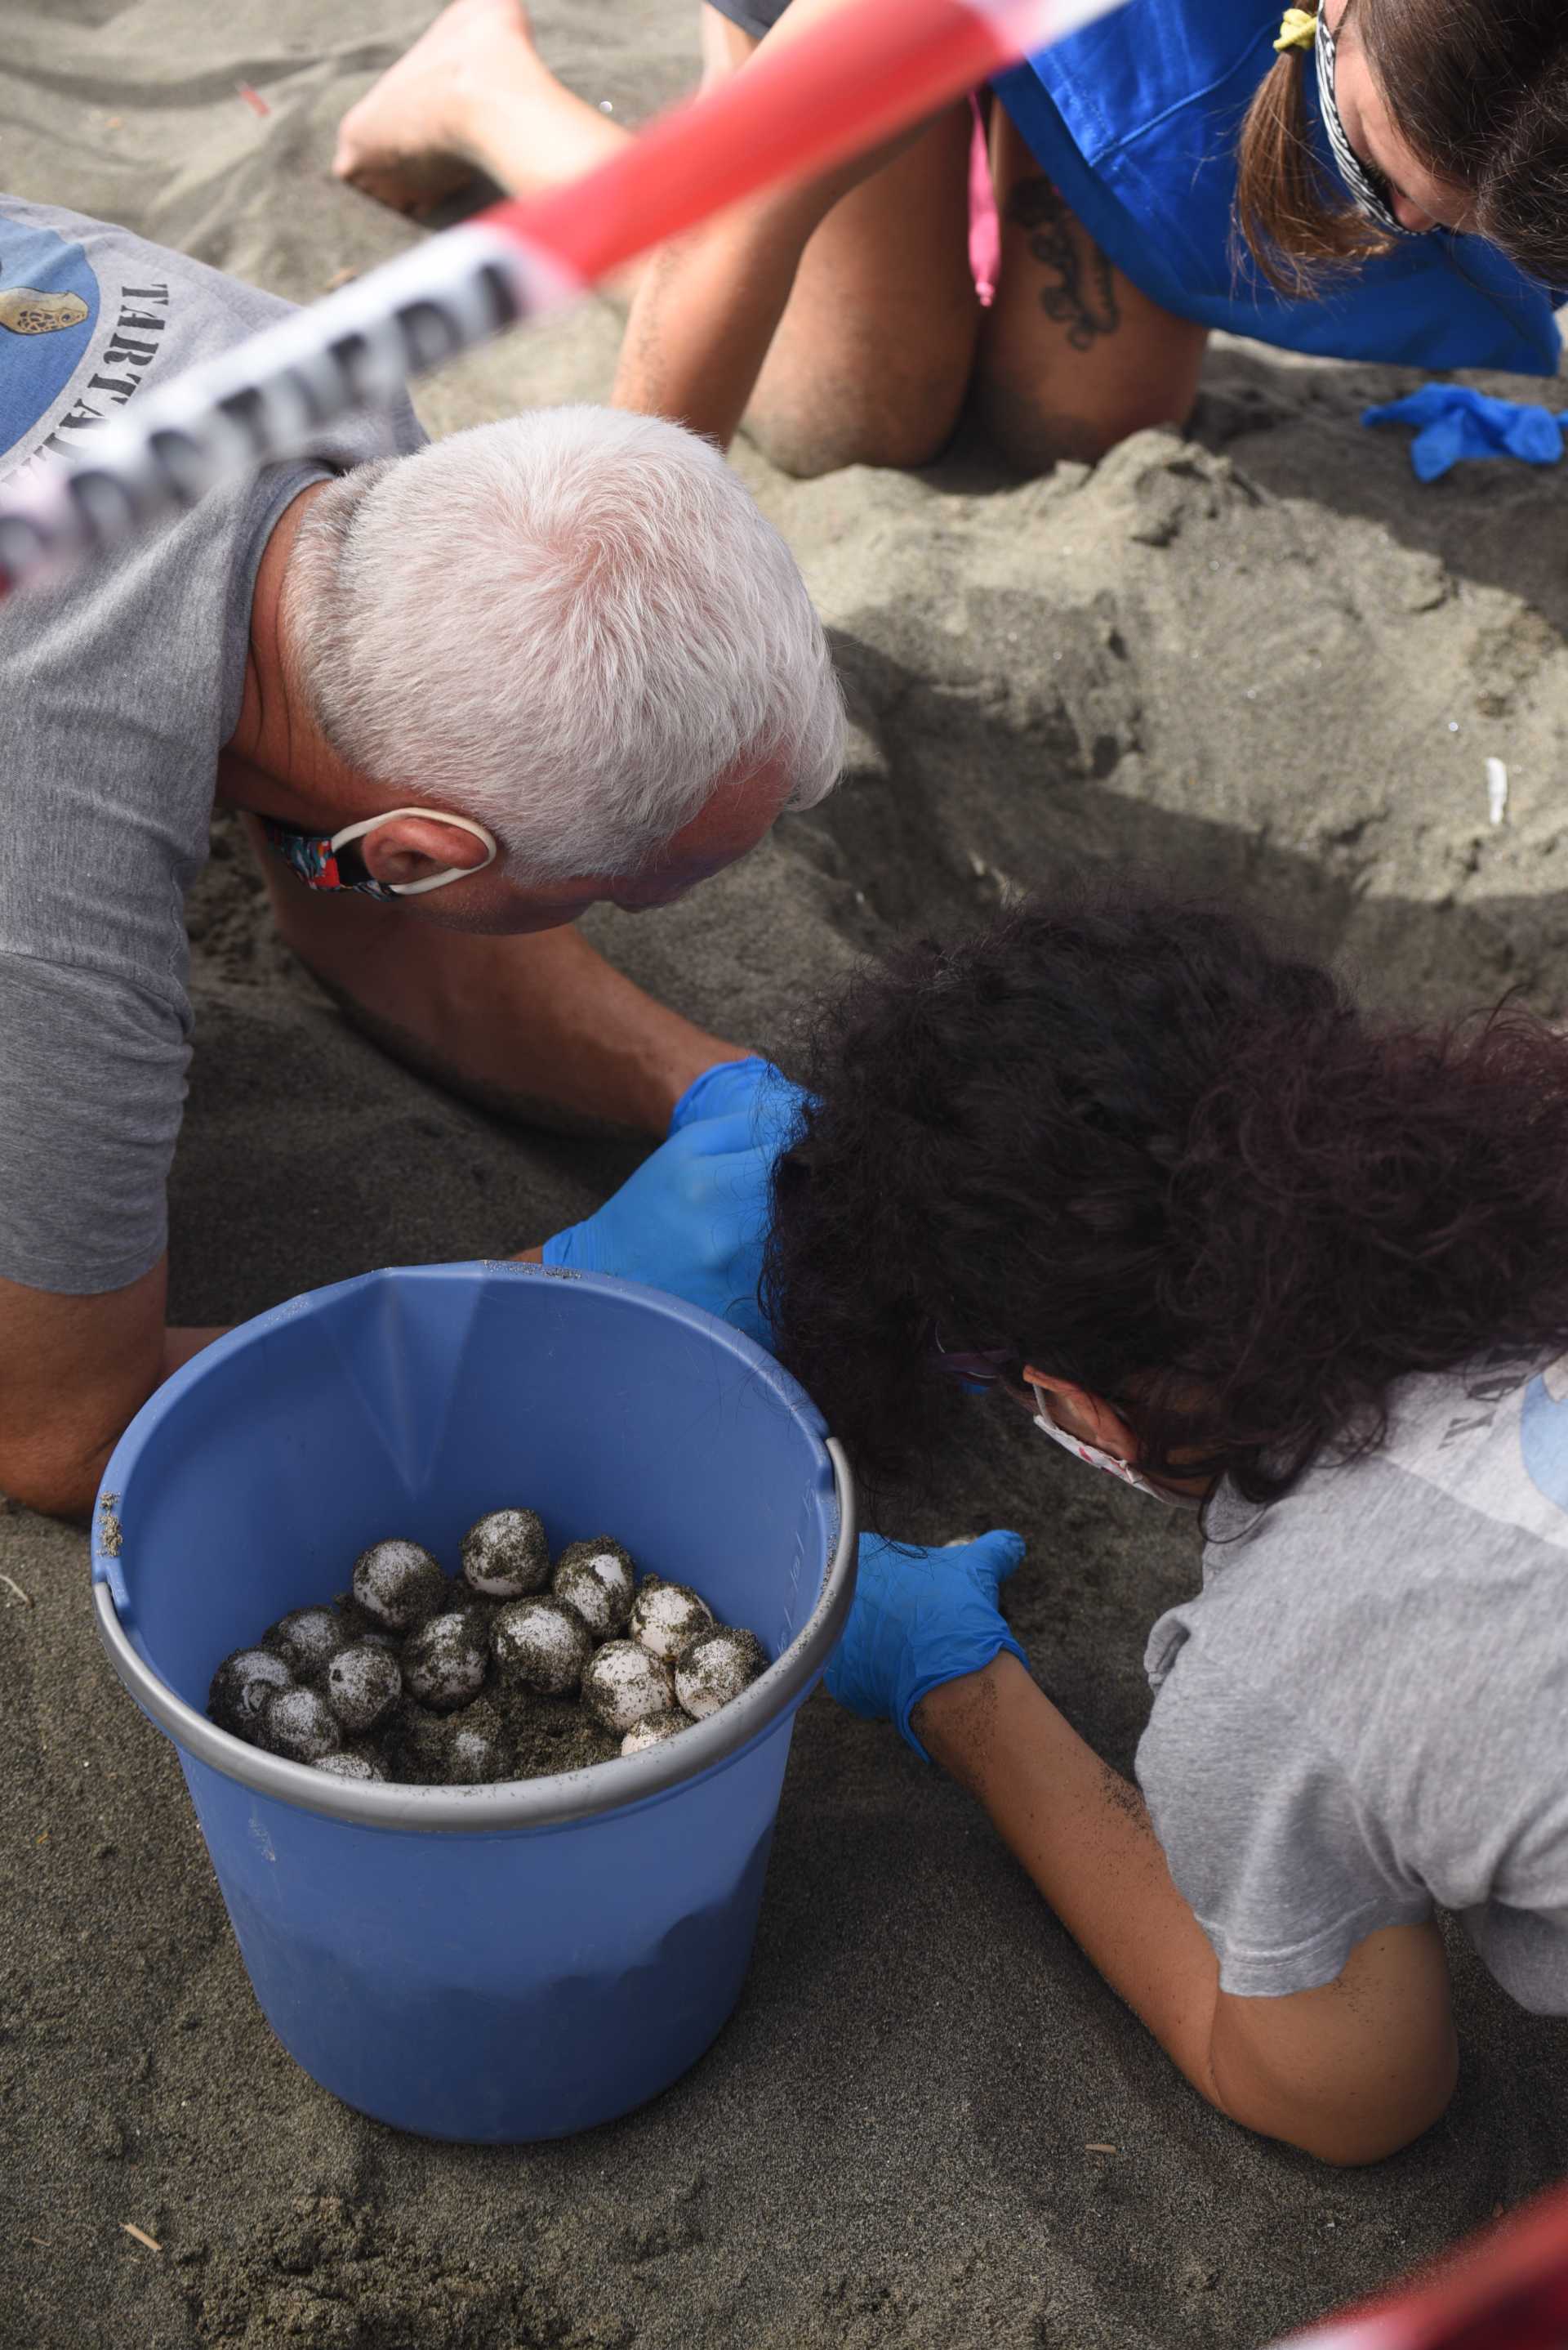
[[[824,1673],[829,1692],[850,1713],[894,1723],[930,1762],[908,1727],[927,1690],[979,1673],[1002,1650],[1028,1671],[998,1607],[998,1591],[1021,1558],[1023,1537],[1009,1532],[930,1551],[861,1535],[854,1607]]]

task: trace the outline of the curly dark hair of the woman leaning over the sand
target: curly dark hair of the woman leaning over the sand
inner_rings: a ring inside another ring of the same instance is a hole
[[[1376,1020],[1235,914],[1035,898],[859,975],[807,1090],[763,1295],[873,1480],[953,1438],[937,1340],[1256,1502],[1411,1372],[1568,1347],[1568,1041],[1519,1006]]]

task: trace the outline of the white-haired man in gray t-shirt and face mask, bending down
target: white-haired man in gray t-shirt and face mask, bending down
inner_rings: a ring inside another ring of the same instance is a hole
[[[279,308],[0,202],[0,472]],[[244,813],[284,938],[392,1050],[500,1107],[664,1133],[742,1048],[568,926],[744,855],[843,745],[777,533],[709,444],[608,409],[439,446],[406,404],[329,430],[14,599],[0,674],[0,1488],[52,1511],[89,1506],[211,1335],[164,1328],[164,1180],[214,804]]]

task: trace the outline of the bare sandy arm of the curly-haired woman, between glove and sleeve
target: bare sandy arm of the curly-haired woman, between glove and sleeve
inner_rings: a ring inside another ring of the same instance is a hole
[[[1368,1934],[1322,1990],[1237,2000],[1218,1988],[1143,1798],[1016,1657],[932,1690],[915,1730],[1110,1988],[1232,2122],[1324,2162],[1378,2162],[1437,2122],[1458,2047],[1434,1927]]]

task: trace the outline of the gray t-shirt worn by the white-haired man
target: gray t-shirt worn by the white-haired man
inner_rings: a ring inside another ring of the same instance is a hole
[[[122,228],[0,197],[0,477],[289,306]],[[185,1097],[183,893],[207,860],[268,536],[310,482],[415,449],[401,402],[0,604],[0,1276],[115,1290],[164,1250]]]

